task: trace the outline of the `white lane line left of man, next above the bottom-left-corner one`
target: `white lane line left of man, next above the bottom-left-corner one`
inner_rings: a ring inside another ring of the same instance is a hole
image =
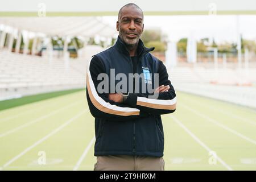
[[[15,131],[18,131],[18,130],[20,130],[20,129],[23,129],[24,127],[30,126],[30,125],[32,125],[32,124],[34,124],[34,123],[36,123],[36,122],[39,122],[39,121],[41,121],[41,120],[43,120],[43,119],[46,119],[46,118],[48,118],[48,117],[51,117],[52,115],[58,113],[59,111],[62,111],[62,110],[64,110],[64,109],[68,109],[69,107],[72,107],[73,105],[79,104],[80,102],[83,102],[83,101],[77,101],[77,102],[75,102],[75,103],[73,103],[73,104],[69,104],[69,105],[67,105],[67,106],[65,106],[65,107],[61,107],[60,109],[57,109],[57,110],[55,110],[55,111],[52,111],[51,113],[49,113],[49,114],[47,114],[47,115],[43,115],[43,116],[40,117],[40,118],[36,118],[36,119],[34,119],[34,120],[32,120],[32,121],[30,121],[30,122],[28,122],[28,123],[24,123],[23,125],[20,125],[20,126],[18,126],[18,127],[15,127],[14,129],[11,129],[11,130],[9,130],[9,131],[6,131],[5,133],[0,134],[0,138],[1,138],[1,137],[5,137],[6,135],[9,135],[9,134],[11,134],[11,133],[14,133]]]

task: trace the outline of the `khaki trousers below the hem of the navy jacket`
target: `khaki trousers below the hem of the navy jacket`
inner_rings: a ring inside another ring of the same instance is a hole
[[[97,156],[94,171],[164,171],[163,158],[138,155]]]

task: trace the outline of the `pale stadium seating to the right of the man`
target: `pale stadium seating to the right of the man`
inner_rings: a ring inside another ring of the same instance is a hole
[[[256,68],[167,68],[176,90],[256,109]]]

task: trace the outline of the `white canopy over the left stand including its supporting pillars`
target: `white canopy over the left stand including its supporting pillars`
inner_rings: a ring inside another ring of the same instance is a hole
[[[14,37],[17,39],[15,52],[19,52],[21,35],[23,35],[24,48],[23,53],[27,53],[28,39],[32,38],[32,55],[35,55],[37,38],[42,37],[47,42],[53,36],[59,36],[64,39],[64,57],[68,57],[68,43],[71,38],[77,36],[85,40],[101,37],[104,40],[112,38],[117,31],[115,27],[110,26],[96,16],[71,16],[71,17],[0,17],[0,48],[4,47],[4,42],[8,33],[8,49],[11,51],[14,43]],[[49,42],[51,43],[51,42]],[[47,43],[47,44],[49,44]],[[51,45],[47,45],[52,49]],[[52,53],[49,53],[52,55]]]

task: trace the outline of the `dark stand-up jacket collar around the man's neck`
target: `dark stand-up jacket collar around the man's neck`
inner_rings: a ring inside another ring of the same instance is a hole
[[[117,50],[121,53],[124,53],[126,56],[130,56],[129,51],[127,50],[125,43],[121,40],[121,38],[118,36],[117,38],[117,42],[114,45],[115,48],[117,48]],[[155,48],[151,47],[151,48],[147,48],[144,46],[143,42],[141,39],[139,39],[139,43],[138,43],[138,49],[137,49],[137,55],[139,57],[145,55],[146,53],[153,51]]]

